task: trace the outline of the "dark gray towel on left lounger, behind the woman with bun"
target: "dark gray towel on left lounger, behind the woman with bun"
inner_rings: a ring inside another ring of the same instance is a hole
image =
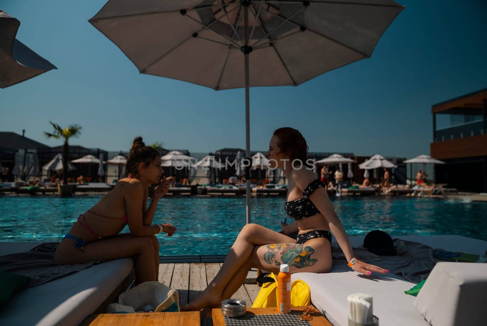
[[[23,288],[27,288],[103,263],[102,261],[92,261],[77,265],[56,264],[54,253],[58,245],[58,242],[46,242],[29,251],[0,256],[0,270],[30,277],[30,281],[23,286]]]

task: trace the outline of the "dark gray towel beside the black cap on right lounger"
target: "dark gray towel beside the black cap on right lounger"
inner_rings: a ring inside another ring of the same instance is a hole
[[[399,239],[394,239],[393,244],[397,256],[376,256],[362,246],[353,249],[358,260],[365,263],[374,262],[373,265],[389,269],[392,273],[402,275],[406,280],[414,283],[419,283],[430,275],[431,269],[438,261],[433,258],[433,253],[443,251],[443,249],[433,249],[428,245]],[[337,243],[332,244],[332,251],[333,265],[347,263]]]

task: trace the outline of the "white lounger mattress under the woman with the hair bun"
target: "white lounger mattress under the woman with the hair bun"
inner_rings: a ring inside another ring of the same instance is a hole
[[[0,243],[0,252],[29,250],[38,244]],[[1,325],[79,325],[122,283],[133,266],[132,258],[117,259],[20,290],[0,307]]]

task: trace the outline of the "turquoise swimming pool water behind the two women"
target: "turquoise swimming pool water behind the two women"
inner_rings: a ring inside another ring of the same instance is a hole
[[[100,198],[2,196],[0,241],[60,241],[78,215]],[[487,203],[384,197],[331,200],[349,235],[381,229],[391,235],[458,234],[487,240]],[[285,216],[283,197],[252,198],[253,223],[279,231]],[[161,255],[223,255],[245,224],[245,198],[162,198],[154,223],[178,228],[171,238],[158,235]],[[129,232],[128,226],[124,232]]]

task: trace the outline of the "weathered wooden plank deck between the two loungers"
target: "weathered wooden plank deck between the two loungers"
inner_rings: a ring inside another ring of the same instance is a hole
[[[194,300],[213,280],[223,263],[164,263],[159,264],[159,282],[179,292],[181,305]],[[255,279],[257,270],[249,271],[247,278]],[[232,296],[243,299],[247,306],[252,306],[260,287],[256,284],[244,284]]]

